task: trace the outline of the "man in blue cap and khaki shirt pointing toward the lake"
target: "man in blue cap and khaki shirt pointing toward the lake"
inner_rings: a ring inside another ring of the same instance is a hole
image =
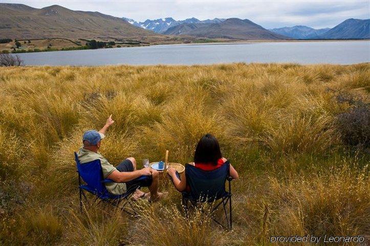
[[[155,202],[162,198],[163,193],[158,192],[158,178],[159,173],[157,170],[151,169],[150,167],[136,170],[136,160],[133,157],[129,157],[120,163],[117,167],[110,164],[98,151],[101,145],[101,140],[105,138],[105,131],[114,123],[112,115],[106,120],[105,125],[99,131],[88,130],[85,131],[82,137],[83,147],[78,152],[78,160],[81,164],[88,163],[94,160],[100,160],[101,169],[104,178],[109,178],[116,183],[106,183],[105,187],[108,192],[120,195],[126,192],[133,185],[139,184],[141,187],[149,187],[149,193],[137,190],[133,198],[135,200],[149,196],[150,202]],[[147,178],[144,180],[137,181],[136,178],[146,175]]]

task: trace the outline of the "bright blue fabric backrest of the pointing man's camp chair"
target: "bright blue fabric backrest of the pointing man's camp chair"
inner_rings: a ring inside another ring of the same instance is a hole
[[[101,171],[100,160],[81,164],[78,160],[77,153],[75,152],[75,161],[78,173],[86,185],[88,185],[88,187],[95,191],[99,196],[107,194],[108,191],[102,183],[103,174]]]

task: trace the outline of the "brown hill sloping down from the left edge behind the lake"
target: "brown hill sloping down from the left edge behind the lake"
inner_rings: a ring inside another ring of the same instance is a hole
[[[1,38],[135,38],[158,35],[99,12],[73,11],[58,5],[36,9],[0,4]]]

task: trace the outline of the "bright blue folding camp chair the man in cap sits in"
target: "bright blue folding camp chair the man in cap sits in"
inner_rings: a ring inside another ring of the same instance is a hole
[[[86,198],[86,195],[84,193],[84,191],[88,191],[96,196],[95,200],[99,198],[101,201],[110,203],[116,207],[118,207],[118,203],[120,202],[120,200],[126,199],[121,209],[131,215],[137,214],[132,204],[129,202],[129,199],[134,194],[134,192],[140,188],[139,185],[129,187],[129,189],[124,194],[114,195],[108,192],[107,189],[105,188],[104,183],[113,183],[114,181],[109,179],[105,180],[103,179],[100,160],[95,160],[92,162],[81,164],[77,158],[77,153],[75,152],[75,161],[78,172],[78,188],[80,192],[81,212],[82,212],[82,196],[85,198],[86,202],[89,203],[89,200],[88,198]],[[82,181],[84,181],[85,183],[84,185],[81,184],[82,183],[81,178]],[[140,176],[136,180],[143,180],[145,178],[148,178],[148,176]],[[132,207],[132,210],[135,212],[135,214],[125,210],[126,204],[129,204]]]

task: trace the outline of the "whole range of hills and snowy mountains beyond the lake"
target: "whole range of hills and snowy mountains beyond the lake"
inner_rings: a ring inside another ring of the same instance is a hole
[[[198,39],[351,39],[370,38],[370,19],[347,19],[332,29],[304,26],[267,30],[249,19],[214,18],[145,20],[99,12],[74,11],[58,5],[37,9],[0,3],[0,38],[116,38],[144,42],[192,42]]]

